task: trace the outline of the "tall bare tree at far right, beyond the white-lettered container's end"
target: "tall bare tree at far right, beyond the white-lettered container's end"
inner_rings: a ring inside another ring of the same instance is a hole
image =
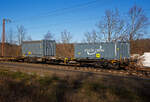
[[[144,10],[134,5],[128,12],[128,40],[136,40],[146,34],[146,28],[149,25]]]

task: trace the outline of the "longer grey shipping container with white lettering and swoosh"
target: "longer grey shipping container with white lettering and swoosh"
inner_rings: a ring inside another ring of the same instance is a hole
[[[130,44],[128,42],[110,42],[74,45],[74,55],[77,59],[124,59],[130,57]]]

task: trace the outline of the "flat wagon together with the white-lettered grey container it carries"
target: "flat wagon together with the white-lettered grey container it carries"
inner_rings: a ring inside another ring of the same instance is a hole
[[[74,45],[74,55],[77,62],[96,66],[115,66],[129,63],[130,44],[128,42],[109,42]]]

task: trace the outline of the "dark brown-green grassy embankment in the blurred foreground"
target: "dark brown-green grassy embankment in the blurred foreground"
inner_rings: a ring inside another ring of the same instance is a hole
[[[0,102],[149,102],[150,81],[0,70]]]

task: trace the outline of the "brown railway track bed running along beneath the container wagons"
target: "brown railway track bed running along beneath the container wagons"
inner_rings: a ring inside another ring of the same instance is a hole
[[[92,67],[79,67],[72,65],[51,65],[51,64],[34,64],[34,63],[22,63],[22,62],[0,62],[0,67],[19,68],[23,69],[40,69],[53,71],[55,73],[88,73],[95,75],[110,75],[110,76],[121,76],[121,77],[135,77],[150,79],[150,71],[147,70],[115,70],[115,69],[103,69],[103,68],[92,68]]]

